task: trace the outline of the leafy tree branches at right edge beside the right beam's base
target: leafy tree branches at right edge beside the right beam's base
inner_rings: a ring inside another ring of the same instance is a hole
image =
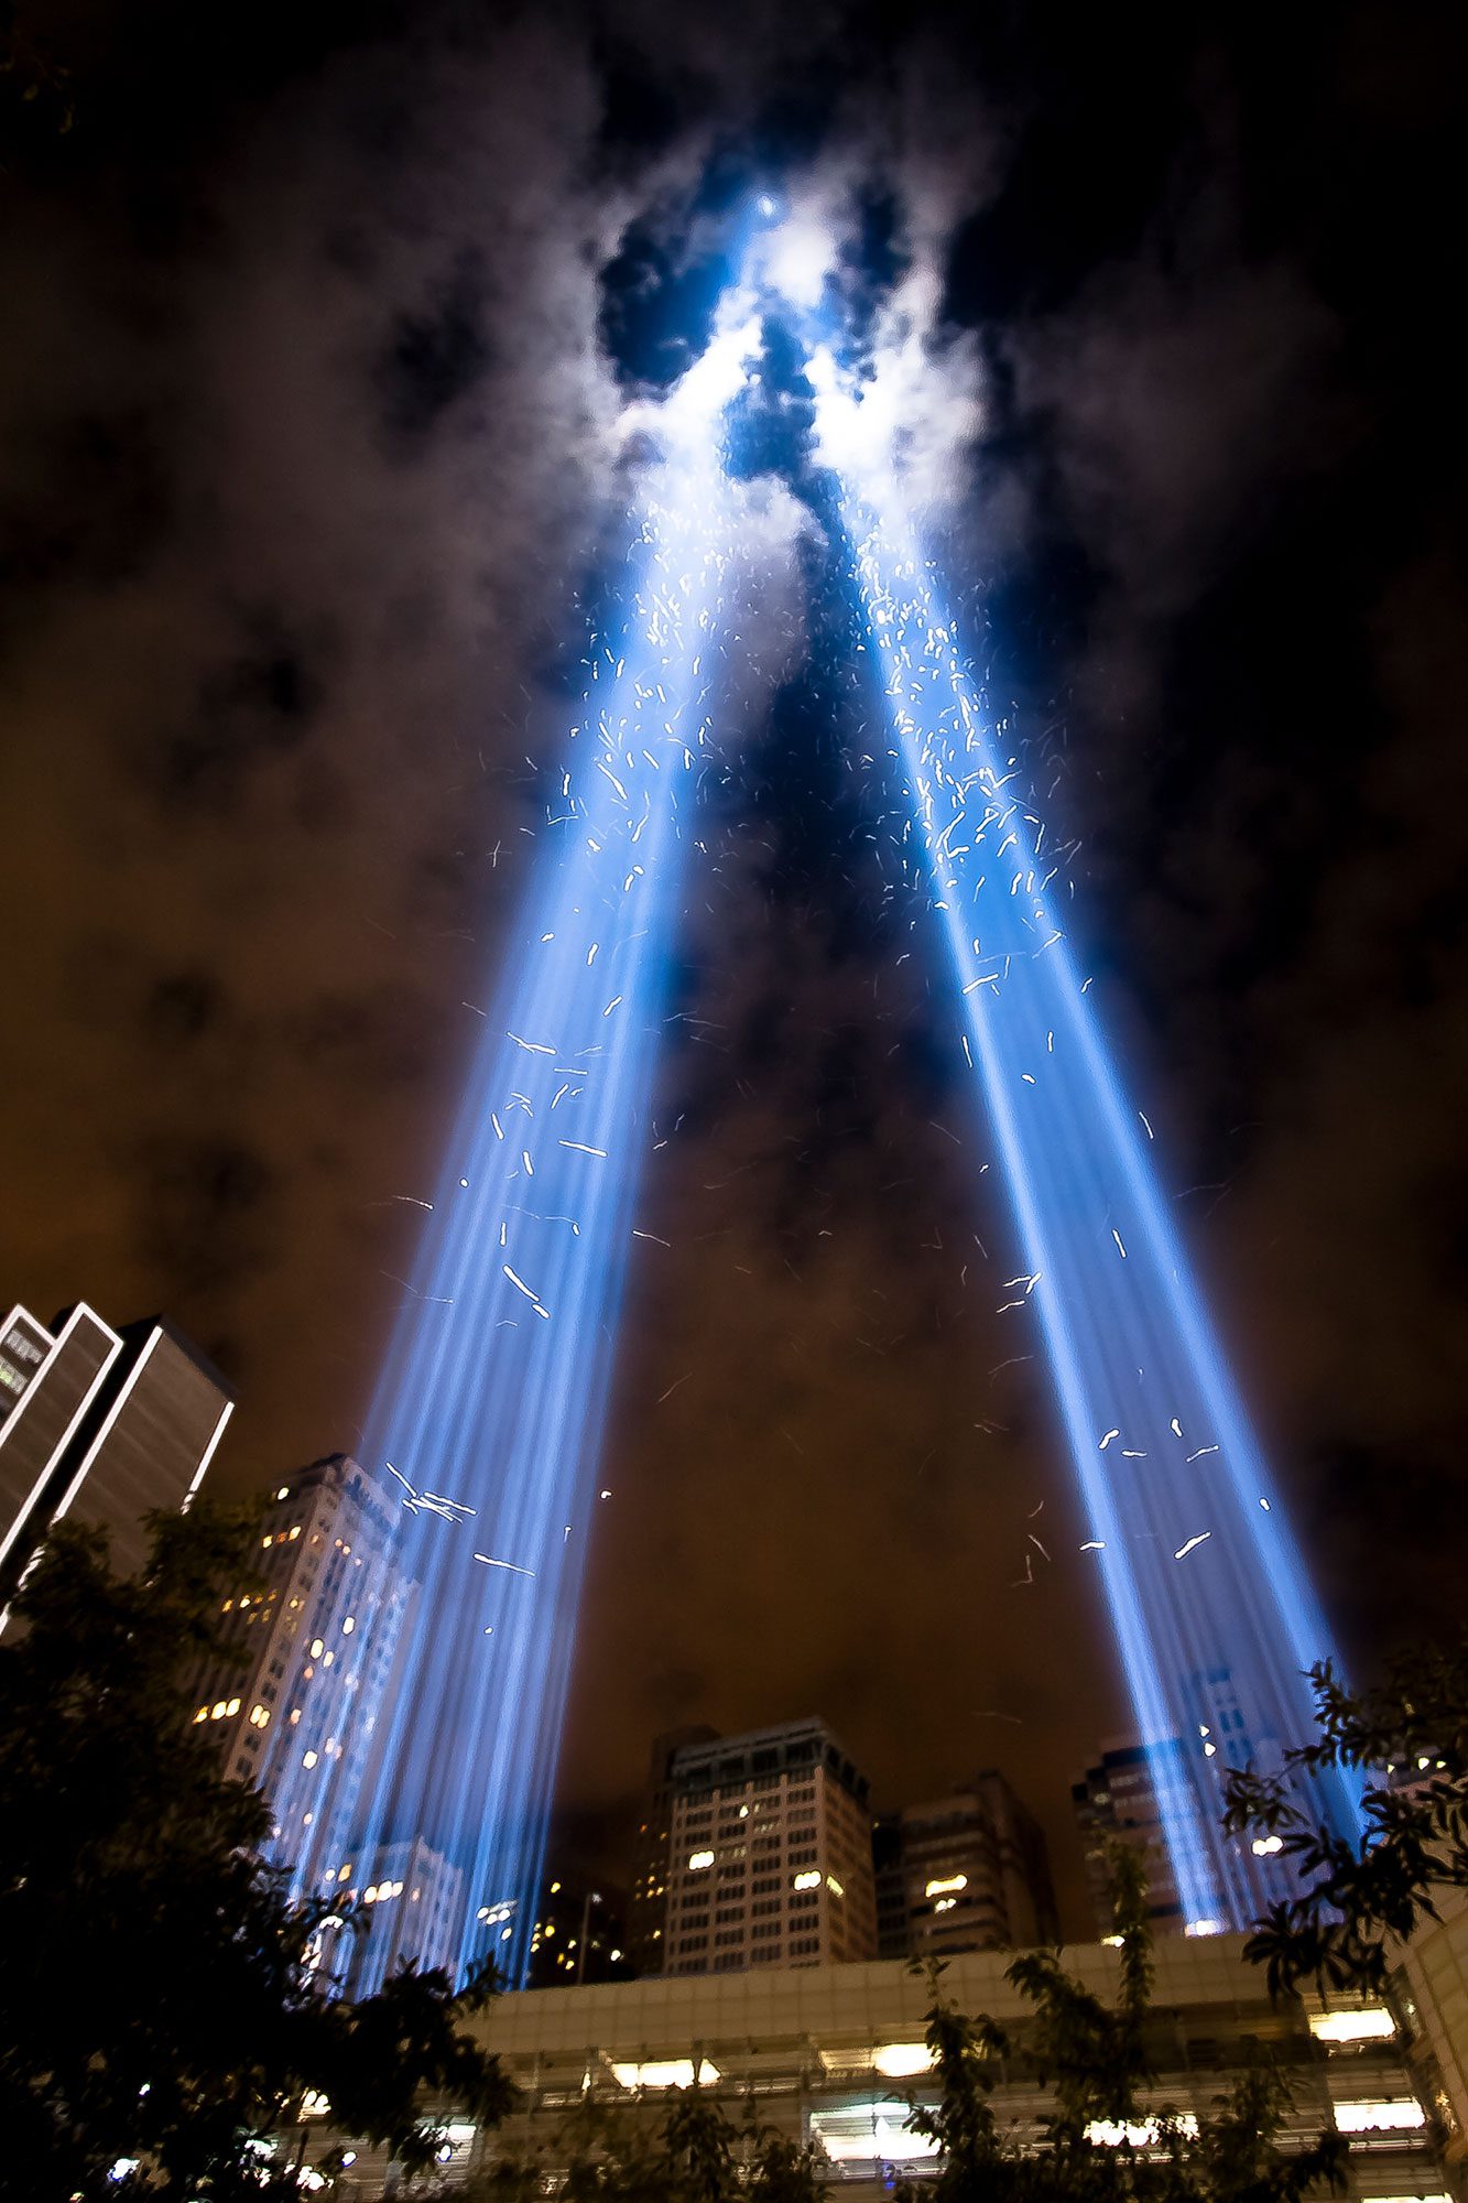
[[[1245,1954],[1270,1989],[1314,1983],[1380,1994],[1389,1943],[1406,1941],[1448,1890],[1468,1888],[1468,1639],[1413,1652],[1386,1681],[1349,1692],[1329,1661],[1312,1668],[1320,1736],[1285,1754],[1278,1776],[1234,1773],[1228,1826],[1278,1835],[1300,1895],[1270,1908]],[[1367,1833],[1351,1844],[1300,1795],[1323,1769],[1367,1776]],[[1415,1778],[1389,1787],[1389,1771]]]

